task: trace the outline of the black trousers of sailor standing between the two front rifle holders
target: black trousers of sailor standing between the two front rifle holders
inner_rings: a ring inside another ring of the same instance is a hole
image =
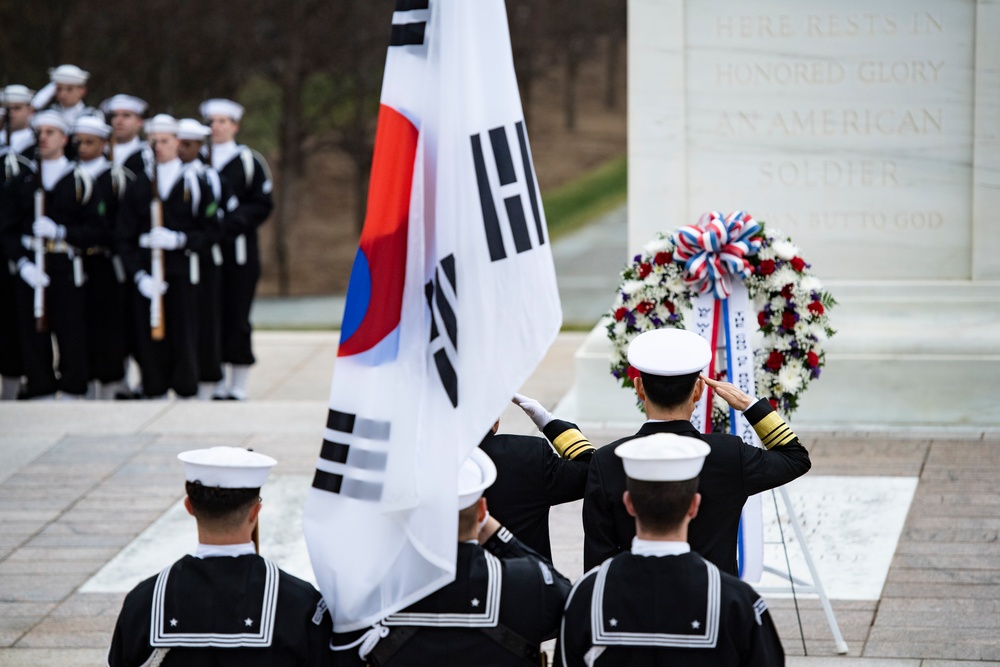
[[[125,285],[107,255],[84,257],[83,267],[90,379],[117,382],[125,377]]]

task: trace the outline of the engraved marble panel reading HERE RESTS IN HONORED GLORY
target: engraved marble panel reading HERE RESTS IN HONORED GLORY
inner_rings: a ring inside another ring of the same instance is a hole
[[[689,220],[749,210],[827,278],[970,277],[975,3],[782,9],[685,5]]]

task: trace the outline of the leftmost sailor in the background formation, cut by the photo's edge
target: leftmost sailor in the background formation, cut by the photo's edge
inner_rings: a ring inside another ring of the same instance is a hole
[[[0,91],[0,103],[5,112],[4,131],[0,133],[0,229],[4,225],[2,216],[6,215],[3,200],[13,196],[14,183],[22,180],[22,170],[31,172],[29,161],[36,157],[35,132],[31,128],[31,117],[35,113],[31,106],[34,94],[35,91],[20,84],[9,85]],[[16,255],[8,255],[4,244],[0,243],[0,400],[5,401],[14,400],[21,393],[21,377],[24,375],[14,316],[14,290],[21,281],[15,265],[18,257],[19,251]]]

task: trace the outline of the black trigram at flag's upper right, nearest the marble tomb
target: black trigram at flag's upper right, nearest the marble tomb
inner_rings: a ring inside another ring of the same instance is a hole
[[[511,132],[517,137],[513,151],[509,141]],[[472,161],[476,166],[476,183],[490,261],[496,262],[507,257],[505,237],[513,240],[514,250],[525,252],[545,243],[545,226],[542,224],[541,202],[535,189],[535,173],[524,122],[518,121],[513,127],[495,127],[488,134],[488,142],[483,140],[481,134],[472,135]],[[495,176],[487,166],[487,148],[493,154]],[[497,200],[503,201],[502,210]],[[529,219],[534,224],[529,225]],[[534,238],[529,227],[534,228]],[[507,234],[504,234],[505,228]]]

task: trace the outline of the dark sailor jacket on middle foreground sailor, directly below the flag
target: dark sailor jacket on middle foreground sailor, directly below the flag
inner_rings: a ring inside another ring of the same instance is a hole
[[[500,528],[486,544],[458,545],[455,581],[382,620],[388,629],[367,664],[497,667],[539,664],[539,645],[559,627],[570,582]],[[360,633],[335,635],[346,645]],[[357,650],[344,665],[366,664]]]

